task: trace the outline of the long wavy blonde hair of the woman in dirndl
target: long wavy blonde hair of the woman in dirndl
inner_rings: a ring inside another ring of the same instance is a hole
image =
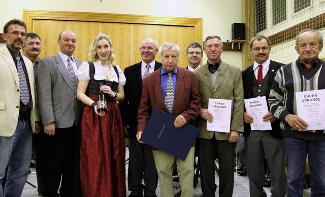
[[[96,37],[94,37],[90,47],[89,47],[89,52],[88,52],[88,61],[89,62],[94,62],[97,61],[99,59],[97,52],[96,52],[96,47],[98,45],[98,42],[102,39],[105,39],[108,41],[108,43],[110,44],[111,47],[111,53],[108,57],[108,61],[110,64],[112,64],[112,66],[116,66],[116,62],[115,62],[115,55],[113,53],[113,44],[112,41],[110,39],[110,37],[108,35],[105,35],[104,33],[99,33]]]

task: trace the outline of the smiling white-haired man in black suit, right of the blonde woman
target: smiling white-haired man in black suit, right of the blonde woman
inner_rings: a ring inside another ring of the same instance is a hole
[[[157,170],[154,164],[152,149],[147,144],[137,141],[137,116],[142,94],[142,80],[154,70],[161,67],[155,60],[158,44],[151,38],[142,41],[140,54],[142,61],[124,69],[126,83],[124,86],[124,101],[119,103],[124,132],[128,136],[128,190],[129,197],[156,196],[158,183]],[[144,185],[142,184],[142,179]]]

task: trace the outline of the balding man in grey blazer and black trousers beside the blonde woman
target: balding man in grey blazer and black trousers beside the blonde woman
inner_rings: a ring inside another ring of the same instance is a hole
[[[37,91],[46,135],[48,171],[43,196],[68,196],[81,103],[76,99],[76,71],[81,61],[73,57],[77,38],[72,31],[59,34],[60,51],[39,60]]]

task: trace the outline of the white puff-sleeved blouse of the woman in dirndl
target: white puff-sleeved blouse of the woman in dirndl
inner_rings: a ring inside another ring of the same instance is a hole
[[[95,80],[107,80],[104,76],[102,76],[102,73],[104,71],[102,62],[100,60],[97,60],[97,61],[93,62],[93,65],[95,67],[95,74],[93,76],[94,79]],[[125,79],[125,75],[122,72],[121,68],[118,65],[116,65],[119,78],[117,78],[115,69],[113,68],[113,66],[111,64],[110,64],[110,68],[111,68],[111,73],[114,77],[111,78],[109,81],[119,82],[118,83],[119,86],[124,86],[126,79]],[[78,68],[77,77],[78,77],[78,80],[81,80],[81,81],[89,81],[90,80],[88,62],[82,62],[82,64]]]

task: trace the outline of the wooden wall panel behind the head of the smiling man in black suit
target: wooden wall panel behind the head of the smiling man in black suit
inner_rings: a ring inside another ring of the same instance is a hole
[[[132,64],[141,61],[140,55],[140,45],[146,38],[152,38],[157,41],[158,48],[164,42],[164,26],[163,25],[144,25],[144,24],[134,24],[133,25],[133,56]],[[161,62],[159,54],[156,55],[156,61]],[[130,65],[132,65],[130,64]]]

